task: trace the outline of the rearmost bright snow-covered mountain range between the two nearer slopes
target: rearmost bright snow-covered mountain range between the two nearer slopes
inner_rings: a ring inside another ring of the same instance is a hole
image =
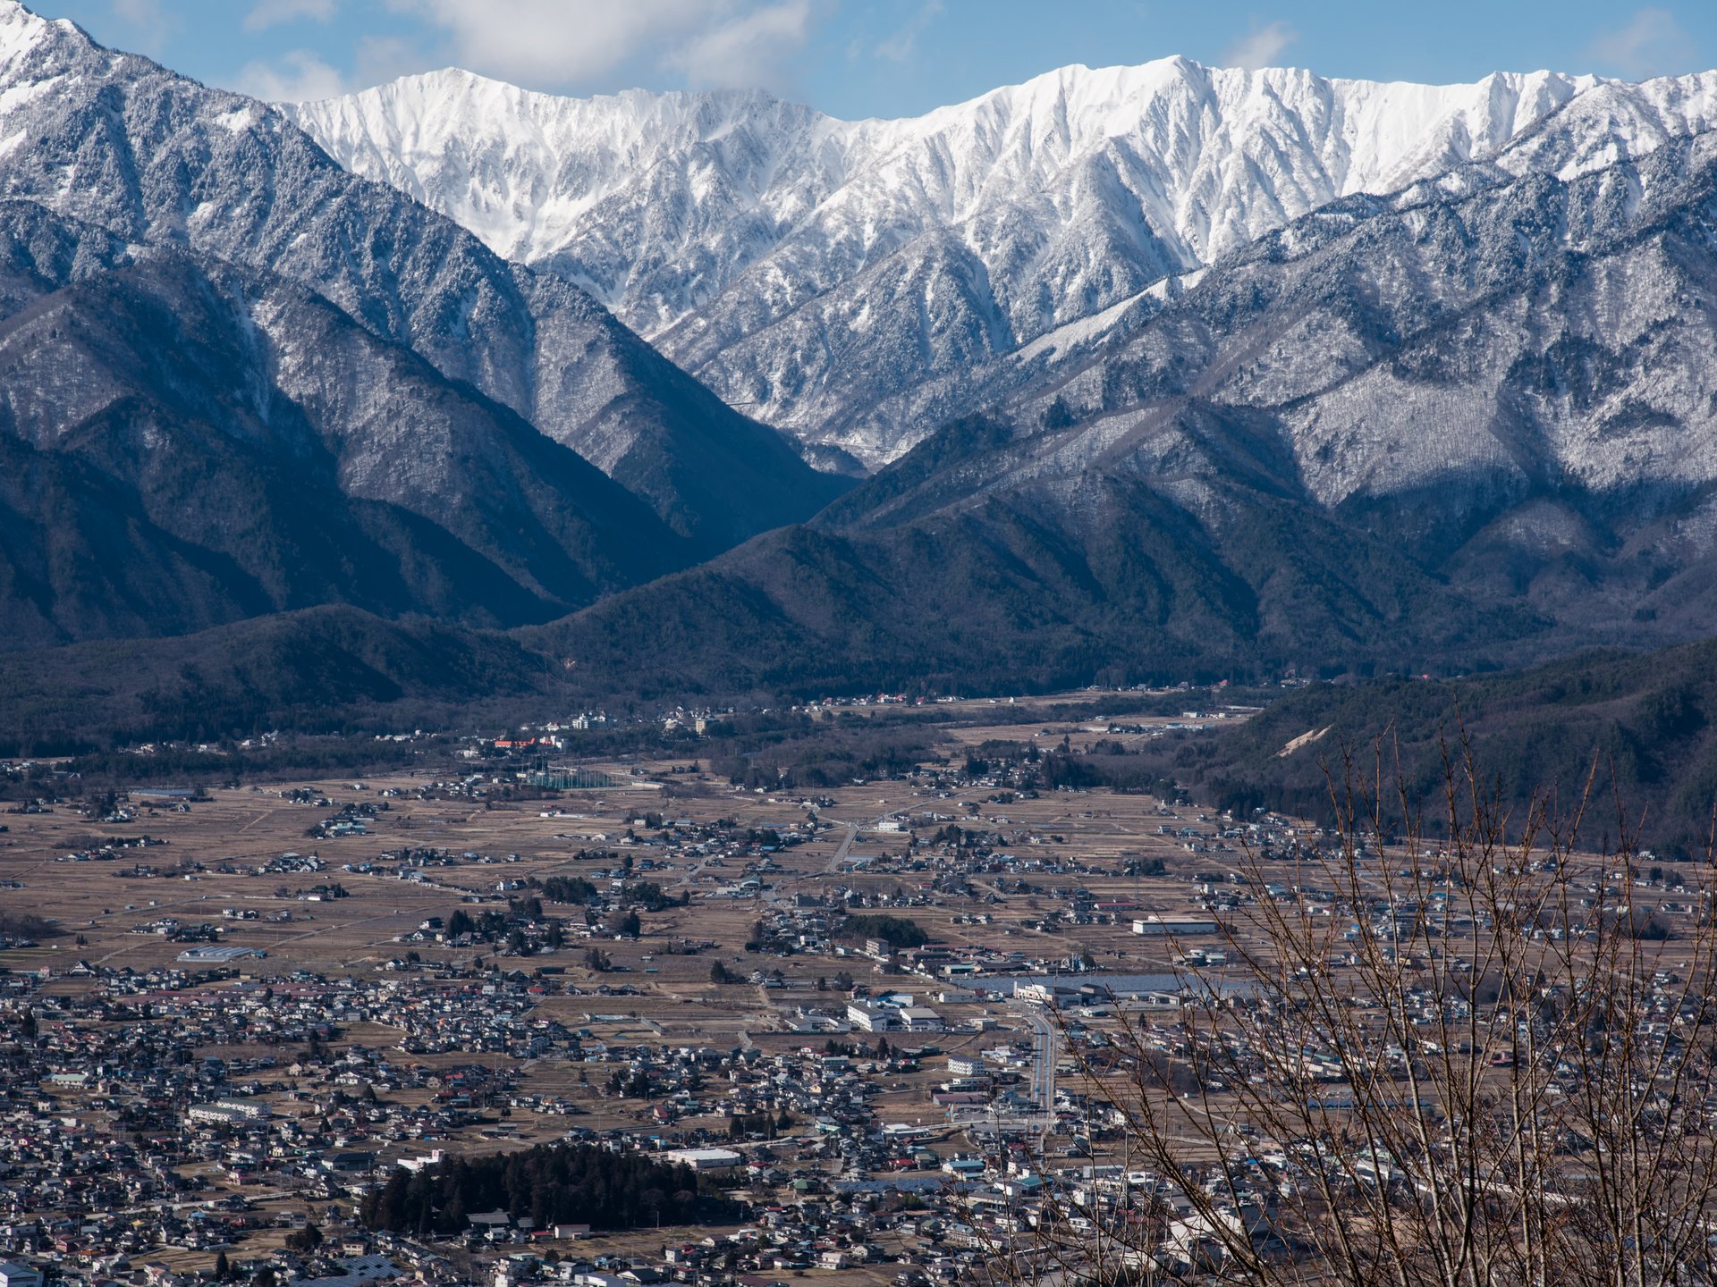
[[[841,122],[755,93],[573,100],[443,70],[285,112],[347,168],[585,287],[728,402],[876,465],[968,400],[974,369],[1128,300],[1149,312],[1166,278],[1336,197],[1641,156],[1717,124],[1717,74],[1415,86],[1166,58]]]

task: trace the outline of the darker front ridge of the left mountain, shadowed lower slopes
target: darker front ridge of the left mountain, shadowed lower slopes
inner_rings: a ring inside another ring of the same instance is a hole
[[[0,202],[14,645],[345,602],[517,625],[692,561],[635,496],[314,292]]]

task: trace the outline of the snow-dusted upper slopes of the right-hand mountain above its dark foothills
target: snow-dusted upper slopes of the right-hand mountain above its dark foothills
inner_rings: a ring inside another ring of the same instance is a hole
[[[1674,578],[1712,553],[1717,136],[1569,180],[1518,161],[1236,252],[1013,398],[1023,424],[1071,426],[1037,468],[1150,470],[1181,408],[1214,407],[1427,566],[1547,607],[1628,587],[1679,609]]]

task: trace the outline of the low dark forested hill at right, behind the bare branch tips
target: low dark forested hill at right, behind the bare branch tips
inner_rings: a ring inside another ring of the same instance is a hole
[[[1089,781],[1149,786],[1173,777],[1197,800],[1331,817],[1344,757],[1375,786],[1399,764],[1427,817],[1442,805],[1444,753],[1463,738],[1483,776],[1526,819],[1537,796],[1583,836],[1626,827],[1665,856],[1703,853],[1717,805],[1717,644],[1645,654],[1592,652],[1465,680],[1386,678],[1315,685],[1235,729],[1159,740],[1144,755],[1087,757]]]

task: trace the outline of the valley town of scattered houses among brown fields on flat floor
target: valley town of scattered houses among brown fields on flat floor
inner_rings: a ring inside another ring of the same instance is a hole
[[[1102,1060],[1128,1007],[1169,1048],[1181,966],[1221,968],[1217,916],[1248,896],[1233,858],[1315,829],[1023,784],[1039,746],[1245,712],[1010,714],[814,791],[683,758],[568,765],[568,729],[362,781],[88,800],[60,779],[12,803],[5,1287],[27,1266],[955,1282],[1041,1184],[1137,1186],[1070,1045]],[[390,1175],[558,1145],[687,1167],[721,1217],[366,1220]],[[1020,1206],[972,1208],[992,1186]]]

